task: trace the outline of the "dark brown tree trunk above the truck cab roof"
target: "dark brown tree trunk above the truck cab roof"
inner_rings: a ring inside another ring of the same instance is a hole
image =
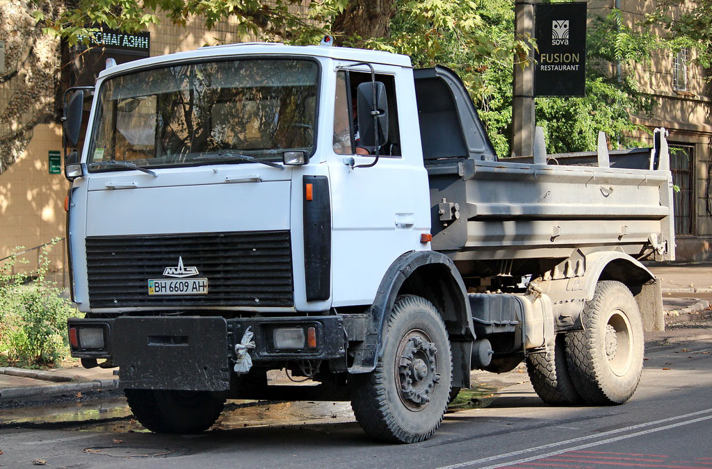
[[[343,38],[386,38],[396,14],[395,0],[350,0],[344,11],[334,20],[332,31],[340,45]],[[342,36],[342,37],[339,37]],[[355,38],[355,42],[360,43]]]

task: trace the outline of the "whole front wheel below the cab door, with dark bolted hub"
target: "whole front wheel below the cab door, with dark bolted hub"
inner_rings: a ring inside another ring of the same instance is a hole
[[[452,381],[450,341],[431,302],[400,295],[374,371],[352,376],[351,407],[368,436],[424,441],[443,419]]]

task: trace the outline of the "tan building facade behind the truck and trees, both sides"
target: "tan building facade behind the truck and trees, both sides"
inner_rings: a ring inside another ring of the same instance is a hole
[[[654,2],[639,0],[592,0],[588,11],[591,19],[618,8],[629,26],[642,28],[644,14],[652,7]],[[35,248],[65,235],[63,205],[69,184],[59,156],[63,90],[92,83],[107,56],[121,63],[256,39],[232,31],[236,27],[230,21],[206,31],[200,19],[187,26],[174,26],[164,19],[145,34],[107,31],[102,41],[109,51],[101,54],[98,49],[70,48],[43,34],[35,26],[28,2],[1,1],[0,260],[16,246]],[[677,256],[683,262],[712,260],[712,90],[705,70],[693,65],[694,58],[690,50],[659,51],[651,63],[638,64],[633,70],[645,93],[657,102],[653,115],[636,116],[635,122],[649,129],[666,127],[674,147],[671,166],[679,187],[675,194]],[[635,137],[651,144],[651,135],[645,132]],[[57,268],[64,265],[63,251],[53,250],[52,263]],[[27,256],[33,268],[36,251]]]

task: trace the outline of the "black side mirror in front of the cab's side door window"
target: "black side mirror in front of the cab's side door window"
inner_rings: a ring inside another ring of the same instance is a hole
[[[374,93],[376,100],[374,106]],[[388,140],[388,98],[386,86],[380,82],[361,83],[357,88],[358,130],[361,137],[361,147],[379,147]],[[374,107],[378,111],[376,118],[378,132],[375,132],[374,119],[371,112]],[[378,144],[376,144],[376,134]]]

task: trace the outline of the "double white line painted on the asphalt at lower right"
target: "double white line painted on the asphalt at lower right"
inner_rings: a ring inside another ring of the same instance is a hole
[[[481,463],[490,463],[490,462],[492,462],[492,461],[501,460],[501,459],[506,459],[506,458],[511,458],[511,457],[513,457],[513,456],[518,456],[518,455],[521,455],[521,454],[533,453],[533,452],[535,452],[535,451],[546,450],[546,449],[549,449],[549,448],[556,448],[557,446],[565,446],[565,445],[569,445],[569,444],[571,444],[571,443],[579,443],[580,441],[592,440],[592,439],[595,439],[595,438],[602,438],[602,437],[604,437],[604,436],[615,435],[615,434],[617,434],[617,433],[624,433],[624,432],[627,432],[627,431],[633,431],[633,430],[637,430],[637,429],[639,429],[639,428],[646,428],[646,427],[649,427],[649,426],[659,425],[660,423],[666,423],[666,422],[671,422],[671,421],[675,421],[675,420],[680,420],[681,418],[689,418],[689,417],[699,416],[699,415],[703,415],[704,413],[711,413],[711,412],[712,412],[712,409],[704,409],[703,411],[697,411],[697,412],[692,412],[692,413],[686,413],[686,414],[684,414],[684,415],[676,416],[676,417],[662,418],[661,420],[656,420],[656,421],[651,421],[651,422],[646,422],[646,423],[639,423],[639,424],[637,424],[637,425],[633,425],[633,426],[629,426],[629,427],[625,427],[625,428],[617,428],[617,429],[615,429],[615,430],[605,431],[605,432],[603,432],[603,433],[597,433],[597,434],[595,434],[595,435],[580,436],[579,438],[571,438],[570,440],[557,441],[556,443],[548,443],[548,444],[542,445],[542,446],[535,446],[535,447],[533,447],[533,448],[526,448],[526,449],[523,449],[523,450],[512,451],[511,453],[504,453],[504,454],[499,454],[499,455],[495,455],[495,456],[489,456],[488,458],[481,458],[481,459],[475,459],[475,460],[471,460],[471,461],[466,461],[466,462],[464,462],[464,463],[457,463],[457,464],[453,464],[453,465],[446,465],[446,466],[443,466],[443,467],[438,468],[438,469],[464,468],[464,467],[469,466],[469,465],[476,465],[476,464],[481,464]],[[668,426],[662,426],[662,427],[658,427],[658,428],[651,428],[651,429],[646,430],[646,431],[641,431],[641,432],[637,432],[637,433],[631,433],[631,434],[629,434],[629,435],[617,436],[617,437],[614,437],[614,438],[608,438],[607,440],[595,441],[595,442],[593,442],[593,443],[587,443],[587,444],[585,444],[585,445],[574,446],[574,447],[571,447],[571,448],[565,448],[565,449],[562,449],[562,450],[557,450],[557,451],[554,451],[554,452],[552,452],[552,453],[546,453],[546,454],[543,454],[543,455],[536,455],[536,456],[533,456],[533,457],[531,457],[531,458],[525,458],[525,459],[522,459],[522,460],[517,460],[517,461],[510,462],[510,463],[506,463],[506,465],[513,465],[513,464],[519,464],[519,463],[528,463],[529,461],[533,461],[533,460],[537,460],[537,459],[541,459],[541,458],[548,458],[548,457],[553,456],[553,455],[558,455],[558,454],[561,454],[561,453],[567,453],[568,451],[580,450],[580,449],[583,449],[583,448],[591,448],[592,446],[598,446],[598,445],[602,445],[602,444],[604,444],[604,443],[610,443],[610,442],[612,442],[612,441],[617,441],[617,440],[624,440],[624,439],[626,439],[626,438],[632,438],[632,437],[634,437],[634,436],[645,435],[646,433],[654,433],[654,432],[656,432],[656,431],[666,430],[667,428],[674,428],[674,427],[677,427],[677,426],[689,425],[690,423],[696,423],[696,422],[699,422],[699,421],[709,420],[709,419],[711,419],[711,418],[712,418],[712,416],[705,416],[705,417],[695,418],[695,419],[693,419],[693,420],[688,420],[688,421],[684,421],[684,422],[673,423],[673,424],[668,425]],[[482,468],[482,469],[499,468],[499,467],[502,467],[502,464],[493,465],[493,466],[486,466],[486,468]]]

